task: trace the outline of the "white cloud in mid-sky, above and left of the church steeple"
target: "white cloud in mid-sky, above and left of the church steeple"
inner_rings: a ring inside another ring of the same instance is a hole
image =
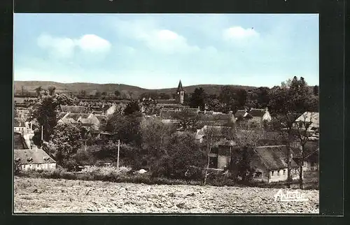
[[[153,20],[116,20],[118,34],[144,43],[149,49],[165,54],[188,53],[200,50],[185,37],[169,29],[160,29]]]

